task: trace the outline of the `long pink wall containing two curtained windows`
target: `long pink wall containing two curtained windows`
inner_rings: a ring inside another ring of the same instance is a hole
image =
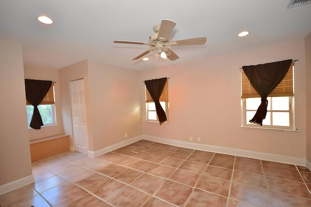
[[[242,128],[239,68],[287,59],[299,59],[294,72],[295,124],[299,131]],[[139,81],[141,104],[144,104],[143,80],[171,78],[171,123],[160,126],[146,122],[142,108],[143,134],[178,141],[201,137],[203,144],[305,158],[305,72],[303,40],[143,71]]]

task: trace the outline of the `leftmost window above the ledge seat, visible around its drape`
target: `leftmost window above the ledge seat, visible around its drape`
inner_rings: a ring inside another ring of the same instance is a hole
[[[34,106],[31,105],[26,100],[26,110],[27,110],[27,121],[28,121],[28,127],[30,125],[31,119],[33,117],[34,112]],[[51,126],[55,125],[55,104],[54,104],[54,83],[52,83],[52,86],[47,93],[47,95],[44,97],[40,105],[38,105],[38,110],[40,112],[43,126]]]

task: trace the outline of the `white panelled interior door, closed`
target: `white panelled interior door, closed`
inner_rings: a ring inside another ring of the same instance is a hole
[[[88,154],[84,79],[70,81],[74,151]]]

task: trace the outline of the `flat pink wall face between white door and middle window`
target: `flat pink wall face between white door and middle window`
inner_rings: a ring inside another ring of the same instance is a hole
[[[139,73],[88,60],[88,78],[94,151],[141,135]]]

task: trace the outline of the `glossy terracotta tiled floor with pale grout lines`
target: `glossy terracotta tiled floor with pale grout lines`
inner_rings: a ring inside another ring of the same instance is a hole
[[[33,162],[35,183],[1,207],[307,207],[306,167],[141,140],[95,159],[66,152]]]

